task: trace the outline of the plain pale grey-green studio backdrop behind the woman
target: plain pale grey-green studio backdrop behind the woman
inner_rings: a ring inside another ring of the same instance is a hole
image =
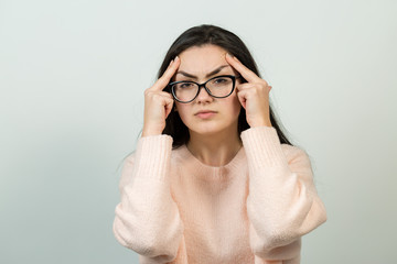
[[[302,264],[391,263],[397,2],[0,1],[0,263],[138,263],[112,234],[122,158],[171,43],[235,32],[311,157],[328,222]]]

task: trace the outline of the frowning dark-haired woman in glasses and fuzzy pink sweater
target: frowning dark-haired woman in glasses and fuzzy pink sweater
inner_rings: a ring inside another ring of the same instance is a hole
[[[195,26],[172,44],[144,91],[114,221],[140,263],[300,263],[301,237],[326,212],[270,89],[232,32]]]

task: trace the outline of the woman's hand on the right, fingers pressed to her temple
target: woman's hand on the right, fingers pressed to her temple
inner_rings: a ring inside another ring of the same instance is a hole
[[[269,91],[271,86],[228,53],[226,62],[248,81],[236,85],[236,90],[238,100],[246,110],[249,127],[271,127],[269,112]]]

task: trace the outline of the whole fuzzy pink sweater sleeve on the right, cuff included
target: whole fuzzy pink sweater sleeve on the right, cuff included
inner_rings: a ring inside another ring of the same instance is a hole
[[[247,213],[254,254],[265,260],[290,260],[300,254],[301,237],[326,221],[307,153],[280,144],[273,127],[242,133],[247,153]]]

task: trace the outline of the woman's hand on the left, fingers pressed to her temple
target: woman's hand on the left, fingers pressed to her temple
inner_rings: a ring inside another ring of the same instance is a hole
[[[180,66],[176,56],[154,85],[144,90],[144,117],[142,136],[159,135],[165,128],[165,119],[172,111],[172,95],[163,91]]]

